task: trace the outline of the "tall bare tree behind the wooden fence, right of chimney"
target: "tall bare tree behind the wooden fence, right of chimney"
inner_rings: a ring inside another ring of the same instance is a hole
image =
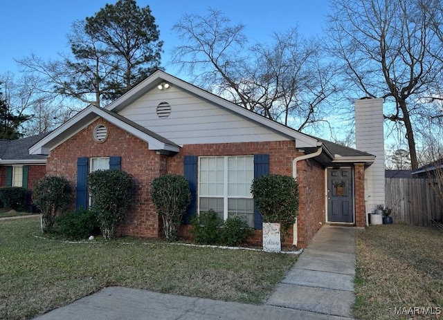
[[[434,58],[435,9],[438,0],[336,0],[332,2],[328,34],[330,52],[341,59],[343,81],[363,95],[393,102],[385,119],[401,124],[410,160],[417,169],[414,121],[422,97],[433,92],[442,71]]]

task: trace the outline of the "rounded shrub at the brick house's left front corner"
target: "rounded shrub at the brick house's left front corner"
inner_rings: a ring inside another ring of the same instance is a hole
[[[42,232],[51,232],[54,218],[65,211],[72,200],[72,189],[64,177],[46,176],[35,182],[34,205],[42,212]]]

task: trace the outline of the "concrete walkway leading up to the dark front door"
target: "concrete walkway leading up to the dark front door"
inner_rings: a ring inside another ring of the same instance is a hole
[[[266,304],[352,317],[355,232],[354,227],[322,227]]]

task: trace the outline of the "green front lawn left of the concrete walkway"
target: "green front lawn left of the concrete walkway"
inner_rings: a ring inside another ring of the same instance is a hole
[[[110,285],[262,303],[296,261],[134,238],[66,243],[41,236],[38,218],[0,221],[0,319],[30,319]]]

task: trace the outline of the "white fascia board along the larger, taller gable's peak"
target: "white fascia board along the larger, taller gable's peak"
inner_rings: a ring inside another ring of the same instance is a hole
[[[147,77],[147,79],[143,80],[141,84],[138,84],[138,86],[132,88],[130,91],[125,93],[125,95],[122,95],[116,101],[106,106],[105,109],[118,113],[118,111],[124,109],[125,106],[134,102],[138,97],[141,97],[151,88],[156,88],[156,86],[161,82],[168,82],[172,86],[183,88],[184,90],[189,91],[194,95],[197,95],[197,97],[201,97],[205,100],[213,102],[214,104],[223,106],[224,108],[228,109],[229,111],[232,111],[233,113],[242,115],[248,118],[249,120],[257,122],[260,125],[267,126],[268,128],[273,129],[274,131],[278,131],[279,133],[294,138],[294,140],[296,140],[297,148],[318,147],[318,140],[316,140],[315,138],[311,138],[308,135],[300,133],[294,129],[291,129],[273,120],[269,120],[268,118],[263,117],[262,115],[258,115],[257,113],[248,111],[247,109],[244,109],[241,106],[237,106],[237,104],[233,104],[228,100],[224,100],[223,98],[218,97],[213,93],[209,93],[208,91],[205,91],[202,88],[193,86],[192,84],[184,82],[183,80],[178,79],[177,77],[169,75],[168,73],[164,73],[161,70],[157,70],[155,73],[150,75],[150,77]]]

